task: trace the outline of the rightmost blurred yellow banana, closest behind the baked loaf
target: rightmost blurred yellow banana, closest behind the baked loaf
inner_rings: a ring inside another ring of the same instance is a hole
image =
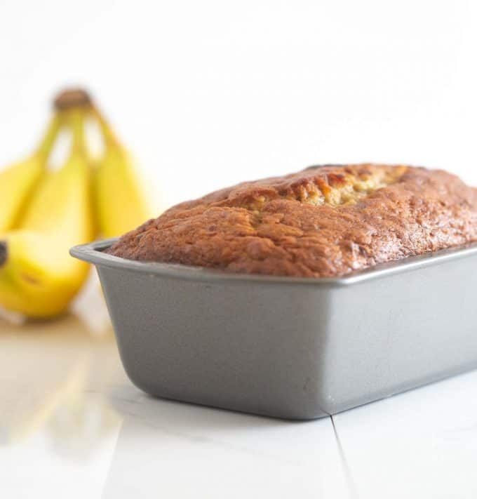
[[[96,215],[102,237],[116,237],[151,218],[152,210],[129,152],[97,109],[93,114],[105,142],[105,153],[94,175]]]

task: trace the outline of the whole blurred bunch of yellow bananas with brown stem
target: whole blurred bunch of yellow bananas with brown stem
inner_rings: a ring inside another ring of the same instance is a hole
[[[105,151],[93,159],[85,126],[97,120]],[[72,135],[69,157],[53,171],[59,131]],[[133,229],[151,213],[133,164],[83,91],[55,99],[55,115],[35,154],[0,172],[0,305],[27,317],[65,312],[88,276],[69,248]],[[99,232],[98,232],[99,231]]]

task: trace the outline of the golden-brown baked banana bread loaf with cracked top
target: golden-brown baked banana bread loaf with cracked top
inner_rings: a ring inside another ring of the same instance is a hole
[[[227,272],[339,277],[477,241],[477,189],[445,171],[312,166],[170,208],[107,251]]]

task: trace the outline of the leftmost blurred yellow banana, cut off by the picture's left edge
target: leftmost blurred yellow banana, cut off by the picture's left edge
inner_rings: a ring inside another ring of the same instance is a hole
[[[59,128],[55,114],[36,152],[0,172],[0,234],[14,229],[25,211],[28,199],[46,168],[46,161]]]

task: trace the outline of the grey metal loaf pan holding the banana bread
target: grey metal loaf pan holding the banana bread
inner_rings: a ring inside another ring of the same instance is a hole
[[[157,397],[320,418],[477,367],[477,245],[340,279],[227,274],[76,246],[130,380]]]

